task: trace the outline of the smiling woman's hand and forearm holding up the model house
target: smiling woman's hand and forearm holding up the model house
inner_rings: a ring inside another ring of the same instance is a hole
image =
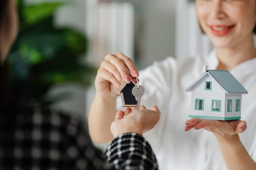
[[[256,170],[255,161],[246,151],[238,136],[246,130],[246,121],[194,118],[187,120],[185,125],[185,131],[192,128],[206,129],[214,134],[227,170]]]

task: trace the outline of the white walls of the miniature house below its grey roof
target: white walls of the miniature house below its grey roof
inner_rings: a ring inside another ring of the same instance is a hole
[[[206,89],[206,82],[210,82],[210,90]],[[207,119],[240,119],[241,98],[242,94],[227,94],[216,79],[206,74],[192,90],[190,116]],[[203,101],[200,109],[196,107],[198,100]],[[219,101],[219,110],[213,109],[213,101]]]

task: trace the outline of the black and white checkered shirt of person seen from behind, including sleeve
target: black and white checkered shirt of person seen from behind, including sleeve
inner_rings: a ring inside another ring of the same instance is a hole
[[[0,113],[0,170],[158,169],[150,145],[137,134],[115,138],[105,158],[79,118],[39,106],[6,114]]]

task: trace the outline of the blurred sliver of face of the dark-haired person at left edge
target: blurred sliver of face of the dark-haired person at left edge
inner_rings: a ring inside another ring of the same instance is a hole
[[[3,62],[12,46],[18,33],[18,14],[16,9],[16,0],[8,0],[7,15],[3,19],[3,25],[0,28],[0,58]]]

